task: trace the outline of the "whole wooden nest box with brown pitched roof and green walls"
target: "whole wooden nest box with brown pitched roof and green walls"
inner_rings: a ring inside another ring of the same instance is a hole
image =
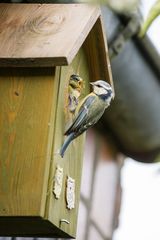
[[[0,5],[0,235],[75,237],[84,134],[59,149],[72,74],[112,84],[97,6]]]

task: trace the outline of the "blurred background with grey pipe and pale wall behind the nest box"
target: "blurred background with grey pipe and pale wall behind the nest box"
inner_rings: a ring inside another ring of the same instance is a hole
[[[159,240],[160,1],[98,3],[115,100],[87,133],[76,239]]]

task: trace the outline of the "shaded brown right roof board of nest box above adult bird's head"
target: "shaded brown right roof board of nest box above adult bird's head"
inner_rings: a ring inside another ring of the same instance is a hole
[[[109,60],[106,36],[101,17],[98,18],[85,43],[90,78],[109,82],[114,90],[111,64]]]

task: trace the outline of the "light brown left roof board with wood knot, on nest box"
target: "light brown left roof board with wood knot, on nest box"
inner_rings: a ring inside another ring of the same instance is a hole
[[[87,4],[0,4],[0,66],[68,65],[99,15]]]

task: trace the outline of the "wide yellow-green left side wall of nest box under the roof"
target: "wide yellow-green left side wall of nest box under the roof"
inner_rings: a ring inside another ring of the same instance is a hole
[[[54,74],[53,68],[0,70],[1,217],[44,215],[56,108]]]

